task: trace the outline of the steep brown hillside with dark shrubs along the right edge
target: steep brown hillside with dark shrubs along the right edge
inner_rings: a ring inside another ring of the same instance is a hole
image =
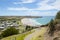
[[[51,23],[52,24],[48,26],[48,31],[44,35],[44,40],[60,40],[60,11]]]

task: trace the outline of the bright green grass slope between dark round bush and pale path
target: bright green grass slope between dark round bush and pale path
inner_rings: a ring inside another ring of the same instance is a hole
[[[31,34],[32,32],[33,31],[29,31],[23,34],[9,36],[9,37],[3,38],[2,40],[24,40],[25,36],[27,36],[28,34]]]

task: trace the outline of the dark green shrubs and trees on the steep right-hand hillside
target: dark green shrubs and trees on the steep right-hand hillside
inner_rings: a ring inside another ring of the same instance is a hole
[[[57,13],[54,20],[51,20],[49,23],[49,34],[52,36],[55,31],[56,24],[60,24],[60,11]]]

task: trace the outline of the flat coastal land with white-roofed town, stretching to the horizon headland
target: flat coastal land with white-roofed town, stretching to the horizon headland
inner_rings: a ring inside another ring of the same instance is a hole
[[[7,29],[9,27],[15,27],[16,29],[25,30],[27,25],[24,25],[21,22],[21,20],[23,18],[41,18],[41,16],[0,16],[0,30]],[[31,25],[33,25],[33,24],[31,24]],[[35,26],[35,27],[37,27],[37,26]]]

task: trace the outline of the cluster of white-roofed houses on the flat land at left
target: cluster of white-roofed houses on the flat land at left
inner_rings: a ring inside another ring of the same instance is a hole
[[[11,21],[3,21],[0,23],[0,29],[4,29],[7,27],[18,27],[19,24],[17,24],[16,22],[11,22]]]

